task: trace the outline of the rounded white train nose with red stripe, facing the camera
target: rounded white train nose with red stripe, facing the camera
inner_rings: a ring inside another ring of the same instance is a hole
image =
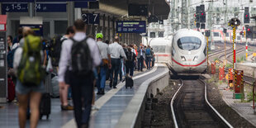
[[[199,31],[181,29],[173,36],[172,69],[178,73],[203,73],[206,70],[206,38]]]

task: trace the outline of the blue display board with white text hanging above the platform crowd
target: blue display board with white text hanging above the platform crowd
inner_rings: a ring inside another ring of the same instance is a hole
[[[116,21],[116,33],[145,33],[146,21]]]

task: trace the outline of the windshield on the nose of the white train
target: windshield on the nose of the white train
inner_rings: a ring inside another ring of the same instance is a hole
[[[178,39],[178,47],[182,50],[198,50],[201,46],[201,40],[197,37],[182,37]]]

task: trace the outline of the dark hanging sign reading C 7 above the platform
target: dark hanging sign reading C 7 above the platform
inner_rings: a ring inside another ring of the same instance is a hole
[[[99,24],[100,23],[100,13],[83,13],[82,19],[86,24]]]

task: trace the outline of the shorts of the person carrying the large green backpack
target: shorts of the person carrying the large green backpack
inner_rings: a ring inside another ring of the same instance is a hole
[[[22,83],[19,80],[17,80],[17,84],[16,84],[15,90],[19,94],[27,94],[29,92],[41,92],[41,93],[44,93],[45,92],[45,86],[44,86],[44,83],[41,82],[40,85],[33,86],[33,87],[26,87],[25,85],[22,85]]]

